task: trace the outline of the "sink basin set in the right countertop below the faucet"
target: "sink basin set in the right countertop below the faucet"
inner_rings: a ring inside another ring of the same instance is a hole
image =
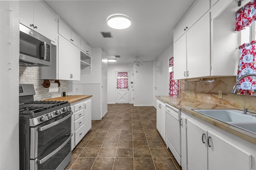
[[[256,114],[236,109],[193,109],[214,119],[256,134]]]

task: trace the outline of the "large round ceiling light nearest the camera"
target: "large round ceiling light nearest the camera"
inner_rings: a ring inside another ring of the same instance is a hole
[[[114,29],[125,29],[130,27],[131,19],[123,14],[114,14],[108,17],[108,26]]]

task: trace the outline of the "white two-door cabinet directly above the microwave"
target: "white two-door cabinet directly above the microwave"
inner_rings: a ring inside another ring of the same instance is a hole
[[[20,23],[57,42],[57,16],[41,1],[20,1]]]

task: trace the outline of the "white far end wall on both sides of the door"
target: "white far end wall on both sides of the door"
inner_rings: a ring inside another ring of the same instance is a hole
[[[138,66],[137,73],[134,71],[134,76],[132,76],[133,66],[108,64],[108,104],[116,103],[116,71],[129,71],[129,81],[134,82],[134,106],[153,106],[153,62],[142,64]],[[129,86],[131,87],[131,84]],[[130,95],[130,103],[132,103],[132,95]]]

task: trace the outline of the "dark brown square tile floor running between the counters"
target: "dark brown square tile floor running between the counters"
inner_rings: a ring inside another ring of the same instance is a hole
[[[109,104],[72,151],[70,170],[181,170],[156,130],[156,108]]]

